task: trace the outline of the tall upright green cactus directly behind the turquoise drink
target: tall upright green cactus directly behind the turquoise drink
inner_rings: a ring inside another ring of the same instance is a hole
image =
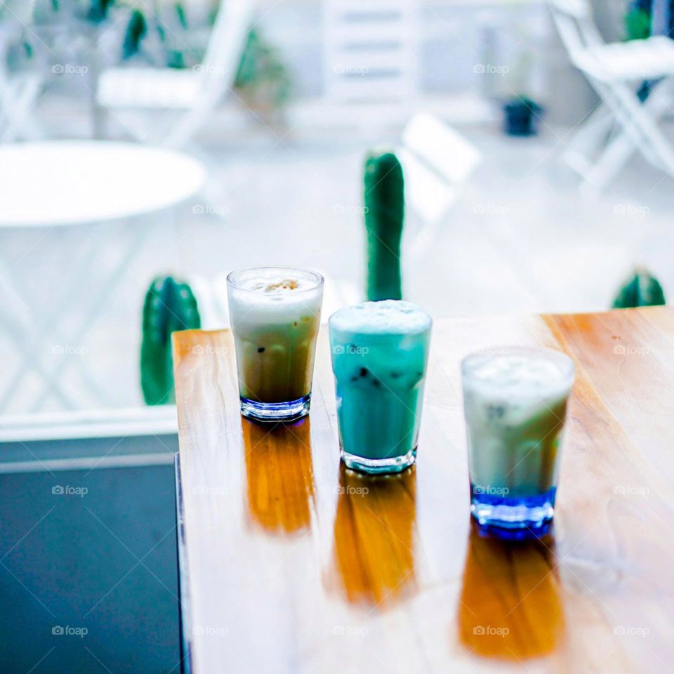
[[[392,152],[365,160],[368,300],[402,299],[400,240],[405,213],[402,166]]]

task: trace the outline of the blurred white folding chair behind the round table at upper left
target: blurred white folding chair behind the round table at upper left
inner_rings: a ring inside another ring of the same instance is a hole
[[[140,130],[138,140],[169,147],[187,143],[206,122],[234,84],[251,27],[254,0],[221,0],[204,60],[191,70],[124,68],[105,70],[98,81],[97,102],[112,110],[178,110],[178,120]],[[159,128],[157,128],[159,127]]]

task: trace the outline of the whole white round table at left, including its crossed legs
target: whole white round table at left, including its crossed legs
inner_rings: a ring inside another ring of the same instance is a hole
[[[196,159],[158,147],[73,140],[0,146],[0,232],[24,227],[124,223],[190,199],[199,192],[205,178],[204,166]],[[139,223],[114,273],[98,282],[92,281],[88,272],[95,267],[95,260],[72,260],[67,270],[71,286],[86,288],[98,301],[77,326],[66,326],[67,329],[61,329],[59,323],[72,297],[65,293],[48,316],[39,315],[13,279],[13,265],[0,256],[0,290],[6,300],[1,303],[0,326],[11,336],[22,359],[15,378],[1,393],[0,411],[30,370],[36,371],[45,384],[34,409],[44,404],[50,392],[65,407],[74,407],[59,381],[67,365],[66,355],[52,369],[46,369],[35,354],[46,343],[81,343],[88,326],[105,310],[105,298],[110,298],[121,285],[149,232]],[[103,290],[96,292],[94,286]],[[84,369],[81,374],[92,395],[100,397],[101,389],[91,376]]]

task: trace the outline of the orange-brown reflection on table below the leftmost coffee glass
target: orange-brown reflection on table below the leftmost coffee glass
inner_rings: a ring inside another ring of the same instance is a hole
[[[249,517],[267,533],[308,531],[314,499],[308,417],[293,424],[241,420]]]

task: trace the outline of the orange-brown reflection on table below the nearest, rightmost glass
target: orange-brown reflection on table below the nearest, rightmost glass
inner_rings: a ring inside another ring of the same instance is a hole
[[[463,645],[482,656],[552,652],[564,632],[553,534],[503,541],[471,518],[458,629]]]

